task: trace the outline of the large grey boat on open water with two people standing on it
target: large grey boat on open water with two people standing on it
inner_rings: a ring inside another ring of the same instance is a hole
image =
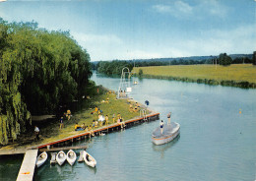
[[[170,125],[163,125],[162,134],[160,133],[160,127],[155,129],[152,134],[152,142],[156,145],[166,144],[179,135],[180,125],[176,122],[171,122]]]

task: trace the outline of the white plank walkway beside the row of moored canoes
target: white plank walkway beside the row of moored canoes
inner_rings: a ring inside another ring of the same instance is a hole
[[[38,150],[26,151],[16,181],[32,181]]]

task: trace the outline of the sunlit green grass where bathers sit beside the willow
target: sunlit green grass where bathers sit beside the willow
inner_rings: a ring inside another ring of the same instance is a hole
[[[102,100],[106,100],[107,97],[109,98],[109,103],[102,102]],[[67,138],[69,136],[78,135],[81,133],[84,133],[84,131],[75,131],[75,124],[78,123],[79,125],[82,125],[85,123],[85,125],[89,126],[93,124],[93,120],[97,120],[97,113],[91,114],[95,107],[99,107],[100,110],[102,110],[102,115],[108,115],[109,117],[109,125],[112,124],[112,115],[115,114],[115,116],[120,113],[122,118],[124,120],[129,120],[135,117],[140,116],[140,111],[132,112],[129,111],[129,103],[132,103],[135,105],[134,101],[129,101],[128,99],[116,99],[116,95],[111,93],[107,94],[100,94],[93,97],[91,100],[87,100],[87,104],[90,106],[86,106],[87,108],[84,108],[78,112],[75,112],[71,118],[71,120],[64,119],[64,128],[59,128],[59,120],[53,121],[51,124],[45,127],[40,127],[40,135],[41,140],[36,142],[32,142],[32,144],[25,144],[20,145],[19,143],[14,143],[9,146],[6,146],[2,149],[7,150],[13,150],[13,149],[24,149],[26,147],[31,147],[35,145],[41,145],[41,144],[47,144],[51,143],[60,139]],[[72,111],[72,110],[71,110]],[[147,112],[149,113],[149,111]]]

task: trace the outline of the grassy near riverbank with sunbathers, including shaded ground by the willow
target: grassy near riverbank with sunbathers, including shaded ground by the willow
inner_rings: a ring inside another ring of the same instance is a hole
[[[108,100],[108,101],[107,101]],[[43,145],[47,143],[54,142],[56,140],[61,140],[67,137],[76,136],[82,134],[86,131],[75,131],[75,124],[82,126],[92,126],[93,121],[98,119],[98,114],[95,112],[96,106],[101,110],[101,115],[108,116],[109,125],[116,123],[118,113],[122,116],[124,120],[129,120],[140,116],[140,108],[144,108],[144,105],[139,104],[140,107],[137,111],[132,111],[130,109],[130,104],[133,108],[136,102],[132,99],[116,99],[114,93],[104,92],[103,94],[98,94],[87,101],[88,106],[75,112],[70,120],[64,118],[64,128],[60,129],[59,118],[42,124],[43,126],[38,126],[40,129],[40,139],[36,141],[35,136],[32,133],[23,135],[23,137],[8,146],[2,147],[1,151],[18,151],[26,150],[27,148],[32,148],[34,146]],[[72,110],[71,110],[72,111]],[[147,111],[147,114],[150,111]],[[113,115],[115,121],[113,122]],[[94,129],[98,129],[100,126]]]

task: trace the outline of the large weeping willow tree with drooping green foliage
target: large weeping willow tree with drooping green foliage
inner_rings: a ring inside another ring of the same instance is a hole
[[[32,114],[87,94],[90,56],[67,31],[0,19],[0,144],[26,132]]]

